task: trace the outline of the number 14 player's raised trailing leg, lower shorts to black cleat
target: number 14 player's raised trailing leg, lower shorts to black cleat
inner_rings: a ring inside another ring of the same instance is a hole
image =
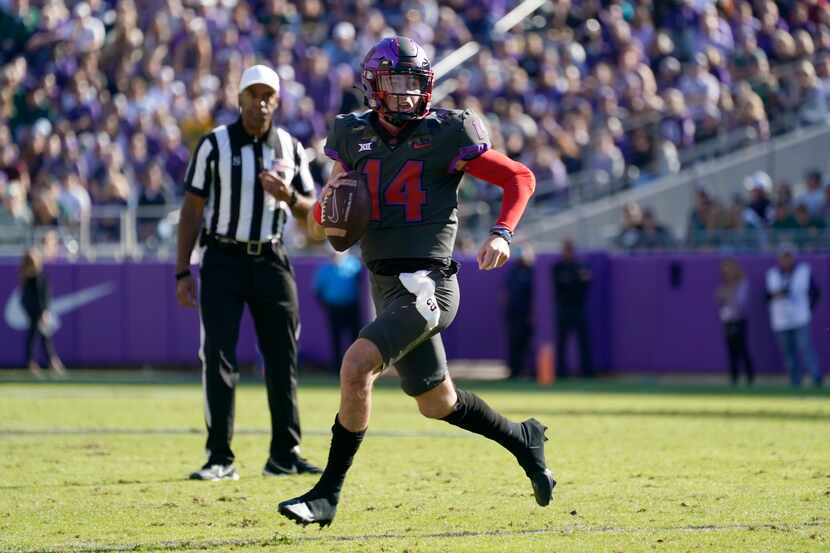
[[[401,386],[425,417],[440,419],[498,443],[519,461],[539,505],[550,503],[556,482],[545,464],[545,430],[536,419],[508,420],[472,392],[456,389],[447,372],[441,336],[436,334],[396,363]]]

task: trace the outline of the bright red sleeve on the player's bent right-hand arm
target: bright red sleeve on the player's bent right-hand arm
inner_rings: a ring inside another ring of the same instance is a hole
[[[523,163],[513,161],[495,150],[487,150],[467,162],[464,171],[477,179],[495,184],[504,190],[501,199],[501,213],[496,226],[506,227],[513,232],[527,207],[527,201],[536,188],[536,177]]]

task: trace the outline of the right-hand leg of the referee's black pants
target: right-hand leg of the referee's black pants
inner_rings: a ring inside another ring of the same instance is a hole
[[[271,411],[271,458],[290,461],[300,445],[297,409],[297,285],[281,246],[275,256],[257,260],[248,307],[265,360],[265,385]]]

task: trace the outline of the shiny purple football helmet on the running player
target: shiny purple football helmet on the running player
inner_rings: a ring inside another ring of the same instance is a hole
[[[406,75],[410,80],[416,81],[418,93],[390,90],[385,83],[390,83],[393,75]],[[384,38],[373,46],[363,58],[360,80],[366,106],[393,125],[400,126],[429,113],[432,100],[432,68],[424,49],[411,38]],[[419,100],[411,111],[393,111],[385,101],[390,96],[416,95]]]

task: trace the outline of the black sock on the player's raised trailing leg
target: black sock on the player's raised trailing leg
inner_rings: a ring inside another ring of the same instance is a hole
[[[490,438],[521,461],[527,443],[524,427],[507,420],[472,392],[456,390],[456,394],[458,401],[455,402],[453,412],[442,420]]]

